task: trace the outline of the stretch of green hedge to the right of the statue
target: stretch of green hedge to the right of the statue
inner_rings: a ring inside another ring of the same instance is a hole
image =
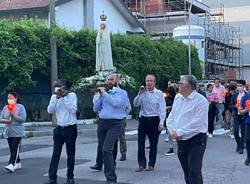
[[[180,75],[188,73],[188,47],[180,41],[162,38],[151,41],[140,35],[113,35],[113,60],[118,69],[144,83],[147,74],[155,74],[160,88],[166,88],[167,81],[178,81]],[[198,53],[192,48],[195,66],[192,73],[201,78]]]

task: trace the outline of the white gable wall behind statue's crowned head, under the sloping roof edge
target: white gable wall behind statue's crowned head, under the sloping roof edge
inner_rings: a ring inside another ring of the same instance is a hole
[[[109,31],[113,33],[126,33],[126,31],[135,31],[109,0],[94,0],[95,30],[99,30],[100,15],[103,11],[104,14],[107,15],[107,26]]]

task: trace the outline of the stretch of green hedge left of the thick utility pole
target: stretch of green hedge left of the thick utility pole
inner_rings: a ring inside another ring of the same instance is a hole
[[[5,89],[34,84],[33,72],[49,61],[49,31],[37,20],[0,21],[0,79]]]

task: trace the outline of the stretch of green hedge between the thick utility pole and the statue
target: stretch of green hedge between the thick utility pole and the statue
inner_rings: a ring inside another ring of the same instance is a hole
[[[89,30],[56,29],[59,78],[75,83],[95,74],[95,37]]]

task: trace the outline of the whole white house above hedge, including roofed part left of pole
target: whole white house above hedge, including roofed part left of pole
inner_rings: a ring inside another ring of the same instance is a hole
[[[122,0],[57,0],[56,23],[67,29],[98,30],[104,12],[113,33],[144,32],[144,27]],[[49,0],[0,1],[0,18],[37,17],[49,22]]]

